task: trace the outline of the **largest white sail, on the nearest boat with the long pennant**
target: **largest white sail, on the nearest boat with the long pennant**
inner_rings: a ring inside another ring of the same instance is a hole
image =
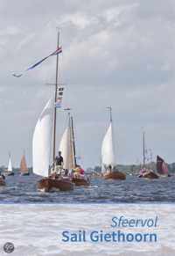
[[[35,174],[48,177],[52,145],[54,101],[49,99],[38,118],[32,138],[32,167]]]

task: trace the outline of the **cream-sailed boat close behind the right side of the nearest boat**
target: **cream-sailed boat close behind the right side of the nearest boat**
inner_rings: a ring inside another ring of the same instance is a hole
[[[71,176],[75,186],[88,186],[90,183],[84,174],[84,170],[76,163],[73,116],[70,113],[68,113],[68,123],[65,132],[60,140],[59,151],[64,159],[63,168],[69,173],[74,171],[71,173]]]

